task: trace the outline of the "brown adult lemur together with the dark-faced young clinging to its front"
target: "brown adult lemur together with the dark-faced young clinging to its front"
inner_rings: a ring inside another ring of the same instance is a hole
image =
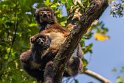
[[[35,19],[40,26],[40,32],[31,37],[31,49],[22,53],[20,60],[24,70],[38,82],[42,82],[46,64],[53,61],[70,31],[57,23],[55,14],[50,8],[37,9]],[[63,76],[77,75],[82,68],[81,58],[82,50],[78,45],[67,63]]]

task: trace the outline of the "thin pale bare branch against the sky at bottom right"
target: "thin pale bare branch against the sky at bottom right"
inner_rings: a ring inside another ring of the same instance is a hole
[[[100,74],[96,73],[96,72],[93,72],[91,70],[86,70],[84,72],[82,72],[90,77],[93,77],[99,81],[101,81],[102,83],[111,83],[110,80],[108,80],[107,78],[101,76]]]

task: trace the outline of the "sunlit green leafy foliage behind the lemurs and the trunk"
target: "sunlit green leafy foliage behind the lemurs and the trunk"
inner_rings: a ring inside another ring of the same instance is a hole
[[[90,6],[90,0],[75,0],[75,2],[73,0],[0,0],[1,83],[35,83],[34,79],[22,70],[19,55],[30,48],[29,38],[38,32],[34,12],[42,6],[51,7],[55,11],[58,22],[66,26],[69,16],[71,17],[70,12],[78,9],[73,15],[76,24],[79,11],[83,14]],[[102,22],[89,27],[87,34],[81,40],[84,54],[92,53],[93,46],[92,43],[86,46],[85,41],[96,32],[104,33],[102,36],[104,37],[107,31]],[[86,67],[88,62],[85,59],[83,61]],[[78,83],[78,80],[75,80],[75,83]]]

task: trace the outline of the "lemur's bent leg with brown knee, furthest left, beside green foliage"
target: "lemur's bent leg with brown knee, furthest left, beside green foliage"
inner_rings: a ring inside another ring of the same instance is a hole
[[[32,57],[32,51],[31,50],[23,52],[20,55],[20,61],[21,61],[23,69],[30,76],[36,78],[37,81],[42,81],[43,80],[43,72],[44,71],[42,71],[40,69],[32,68],[33,57]]]

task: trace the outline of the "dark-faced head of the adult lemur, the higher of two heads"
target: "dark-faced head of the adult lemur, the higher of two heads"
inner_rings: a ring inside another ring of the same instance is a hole
[[[35,19],[39,25],[53,24],[56,22],[54,11],[48,7],[42,7],[36,10]]]

